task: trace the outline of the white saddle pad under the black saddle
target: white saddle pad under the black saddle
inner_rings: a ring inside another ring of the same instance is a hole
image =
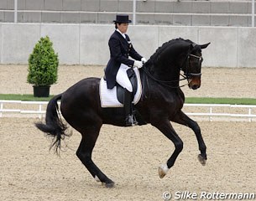
[[[142,94],[142,85],[139,76],[138,69],[133,69],[137,78],[137,92],[134,95],[133,104],[136,105]],[[102,107],[123,107],[123,104],[118,101],[117,87],[115,86],[111,90],[107,89],[107,81],[103,78],[100,82],[100,99]]]

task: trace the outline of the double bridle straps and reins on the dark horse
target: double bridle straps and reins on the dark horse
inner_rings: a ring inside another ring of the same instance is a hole
[[[189,53],[187,54],[187,56],[185,57],[185,60],[181,66],[181,69],[183,69],[183,66],[186,64],[186,72],[184,73],[184,75],[181,75],[183,78],[182,79],[179,79],[179,80],[158,80],[156,78],[154,78],[153,75],[150,74],[149,70],[147,70],[146,68],[142,68],[142,70],[144,70],[144,73],[147,74],[152,80],[158,82],[160,85],[164,85],[164,86],[167,86],[169,88],[180,88],[180,87],[183,87],[185,85],[188,85],[190,83],[190,80],[191,80],[191,77],[192,76],[201,76],[201,72],[200,73],[191,73],[191,72],[188,72],[188,67],[189,67],[189,64],[190,64],[190,58],[191,57],[195,57],[198,59],[198,65],[201,64],[202,62],[202,57],[201,56],[197,56],[195,54],[191,54],[191,51],[189,51]],[[172,86],[171,84],[173,84],[174,82],[178,82],[178,81],[181,81],[181,80],[187,80],[187,84],[185,85],[178,85],[178,86]]]

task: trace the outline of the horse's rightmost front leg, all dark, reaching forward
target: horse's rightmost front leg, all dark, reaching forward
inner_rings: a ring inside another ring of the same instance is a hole
[[[179,123],[184,126],[190,127],[196,134],[196,139],[198,142],[198,147],[201,152],[201,154],[198,155],[198,160],[201,162],[202,165],[206,165],[206,144],[201,136],[201,128],[198,126],[196,121],[191,120],[190,117],[186,116],[183,111],[180,111],[177,113],[175,118],[172,120],[176,123]]]

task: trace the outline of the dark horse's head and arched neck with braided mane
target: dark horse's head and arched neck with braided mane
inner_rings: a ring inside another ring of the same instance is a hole
[[[189,87],[196,90],[201,86],[201,49],[209,44],[195,44],[189,39],[172,39],[156,50],[145,64],[144,71],[161,85],[177,88],[182,70]]]

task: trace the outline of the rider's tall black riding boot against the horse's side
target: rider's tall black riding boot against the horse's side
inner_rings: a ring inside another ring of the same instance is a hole
[[[133,107],[132,107],[132,92],[124,90],[123,97],[123,108],[125,113],[125,126],[135,126],[138,122],[133,116]]]

